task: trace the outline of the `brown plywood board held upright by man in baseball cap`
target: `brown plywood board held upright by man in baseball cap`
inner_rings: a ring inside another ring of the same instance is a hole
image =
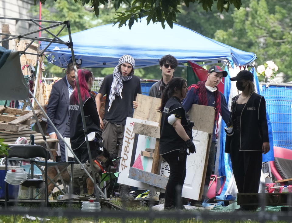
[[[198,131],[213,133],[215,110],[212,106],[195,105],[188,112],[189,119],[194,122]]]

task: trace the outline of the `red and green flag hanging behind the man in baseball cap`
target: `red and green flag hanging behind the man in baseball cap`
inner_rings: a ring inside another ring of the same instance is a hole
[[[188,61],[188,68],[186,74],[186,81],[187,85],[190,86],[192,84],[198,83],[198,81],[206,81],[207,80],[208,70],[204,69],[200,65],[196,63],[192,63]],[[224,92],[224,78],[222,81],[217,85],[220,92]]]

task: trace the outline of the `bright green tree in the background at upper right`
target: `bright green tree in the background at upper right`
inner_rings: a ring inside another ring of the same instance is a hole
[[[250,0],[232,13],[233,25],[215,39],[257,55],[256,64],[273,60],[286,81],[292,80],[291,1]]]

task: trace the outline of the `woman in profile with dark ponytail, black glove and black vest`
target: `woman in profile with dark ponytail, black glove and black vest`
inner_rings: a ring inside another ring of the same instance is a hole
[[[159,154],[169,164],[170,175],[165,189],[164,210],[183,209],[182,185],[186,178],[186,156],[195,153],[193,124],[182,107],[188,87],[181,77],[172,78],[162,94]]]

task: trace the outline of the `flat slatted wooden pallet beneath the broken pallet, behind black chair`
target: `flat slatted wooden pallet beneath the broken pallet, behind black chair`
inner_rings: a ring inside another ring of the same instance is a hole
[[[36,131],[30,129],[23,129],[22,131],[18,132],[17,134],[13,133],[0,133],[0,138],[4,138],[5,144],[14,144],[18,137],[25,137],[27,142],[30,141],[30,134],[34,135],[34,143],[36,145],[40,145],[46,148],[45,141],[43,140],[43,136]],[[45,136],[46,140],[49,144],[49,147],[52,151],[57,150],[59,140],[51,138],[49,136]]]

